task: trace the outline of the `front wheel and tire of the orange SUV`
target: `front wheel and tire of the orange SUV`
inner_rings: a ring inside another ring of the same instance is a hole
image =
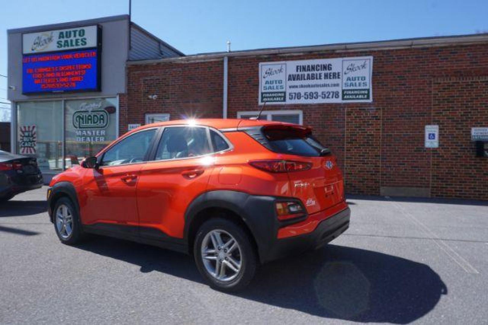
[[[54,205],[53,223],[61,243],[74,245],[81,241],[80,215],[75,205],[67,197],[61,197]]]

